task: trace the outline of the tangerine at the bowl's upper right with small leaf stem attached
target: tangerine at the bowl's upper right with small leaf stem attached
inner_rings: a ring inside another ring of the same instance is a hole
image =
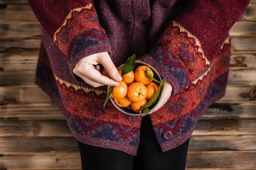
[[[134,76],[135,76],[136,82],[141,82],[143,85],[147,85],[148,83],[152,82],[152,79],[150,77],[148,77],[146,68],[148,69],[151,76],[154,77],[153,71],[145,65],[141,65],[141,66],[137,67],[136,70],[134,71]]]

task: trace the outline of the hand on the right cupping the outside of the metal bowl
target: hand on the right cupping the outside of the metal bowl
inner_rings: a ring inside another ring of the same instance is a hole
[[[157,111],[158,109],[160,109],[166,102],[167,100],[170,98],[170,96],[172,95],[172,85],[169,82],[165,82],[164,83],[164,87],[163,87],[163,96],[162,99],[160,100],[159,104],[157,105],[156,108],[154,108],[153,111],[147,113],[147,114],[151,114],[155,111]],[[145,115],[147,115],[145,114]],[[145,116],[143,115],[143,116]]]

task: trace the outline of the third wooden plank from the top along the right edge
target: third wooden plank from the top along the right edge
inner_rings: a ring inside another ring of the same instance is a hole
[[[232,37],[231,45],[233,51],[256,51],[256,38]]]

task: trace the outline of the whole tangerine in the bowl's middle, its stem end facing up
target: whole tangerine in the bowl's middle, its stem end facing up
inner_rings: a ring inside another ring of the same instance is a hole
[[[141,82],[134,82],[128,87],[127,96],[132,102],[140,102],[147,96],[147,88]]]

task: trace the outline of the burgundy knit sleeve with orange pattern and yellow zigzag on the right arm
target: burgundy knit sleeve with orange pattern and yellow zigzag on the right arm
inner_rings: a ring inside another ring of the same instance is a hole
[[[172,95],[196,84],[212,67],[228,31],[248,3],[249,0],[189,0],[142,59],[172,84]]]

